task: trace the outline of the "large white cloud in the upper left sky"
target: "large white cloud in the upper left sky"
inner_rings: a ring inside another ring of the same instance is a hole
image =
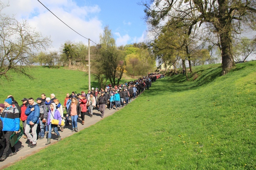
[[[99,41],[99,35],[103,29],[102,22],[97,18],[100,12],[98,5],[77,6],[72,0],[41,0],[41,2],[73,30],[95,43]],[[15,14],[18,21],[26,19],[32,28],[44,36],[51,36],[54,50],[59,50],[66,40],[82,41],[88,45],[88,39],[68,28],[38,1],[11,0],[10,7],[6,7],[2,12],[10,16]],[[91,45],[95,44],[91,43]]]

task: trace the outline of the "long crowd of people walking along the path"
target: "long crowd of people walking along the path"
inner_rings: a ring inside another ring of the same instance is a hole
[[[29,140],[28,147],[37,146],[37,140],[44,139],[47,136],[45,145],[51,143],[52,132],[61,140],[60,133],[63,133],[64,126],[72,125],[72,132],[77,132],[77,119],[85,123],[86,113],[93,117],[93,110],[98,109],[101,117],[104,117],[105,109],[119,109],[127,105],[132,98],[136,98],[144,90],[151,87],[152,82],[162,77],[157,73],[151,73],[138,80],[126,82],[124,84],[112,86],[107,85],[104,89],[91,88],[87,93],[81,91],[81,94],[71,95],[67,93],[63,105],[51,94],[46,97],[43,93],[36,100],[34,98],[23,98],[22,105],[9,95],[4,103],[0,103],[0,161],[7,157],[11,148],[10,156],[17,154],[15,146],[11,145],[10,137],[14,133],[23,131],[23,138]],[[66,110],[64,119],[63,112]],[[71,120],[70,120],[71,118]],[[20,127],[22,121],[23,128]],[[58,131],[60,129],[60,132]]]

